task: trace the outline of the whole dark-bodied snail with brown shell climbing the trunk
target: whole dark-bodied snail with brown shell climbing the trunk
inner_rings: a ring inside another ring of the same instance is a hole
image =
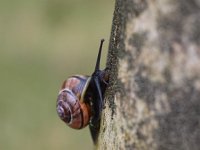
[[[64,81],[57,98],[57,113],[61,120],[74,129],[89,124],[94,143],[98,137],[104,92],[108,72],[100,70],[101,40],[94,73],[91,76],[75,75]]]

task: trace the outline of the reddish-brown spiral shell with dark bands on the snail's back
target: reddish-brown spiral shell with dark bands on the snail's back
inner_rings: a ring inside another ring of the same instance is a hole
[[[89,124],[90,105],[84,102],[84,93],[90,77],[73,76],[62,85],[57,99],[57,113],[71,128],[81,129]]]

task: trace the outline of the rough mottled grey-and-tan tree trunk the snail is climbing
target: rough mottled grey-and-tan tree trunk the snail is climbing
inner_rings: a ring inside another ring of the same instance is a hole
[[[200,1],[116,0],[98,150],[200,149]]]

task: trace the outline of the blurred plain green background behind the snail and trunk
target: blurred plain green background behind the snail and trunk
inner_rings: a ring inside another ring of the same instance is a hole
[[[0,150],[90,150],[89,129],[56,114],[61,83],[91,74],[114,0],[0,0]]]

